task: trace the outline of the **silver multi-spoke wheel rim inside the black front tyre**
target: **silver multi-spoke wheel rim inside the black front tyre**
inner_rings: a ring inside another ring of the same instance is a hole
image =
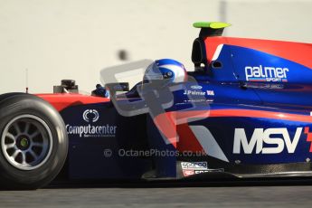
[[[52,132],[42,118],[21,115],[12,119],[1,137],[7,162],[20,170],[43,165],[52,152]]]

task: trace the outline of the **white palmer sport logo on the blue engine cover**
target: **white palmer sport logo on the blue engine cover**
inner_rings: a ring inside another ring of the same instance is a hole
[[[251,81],[284,81],[287,82],[288,68],[274,68],[260,66],[246,66],[246,80]]]

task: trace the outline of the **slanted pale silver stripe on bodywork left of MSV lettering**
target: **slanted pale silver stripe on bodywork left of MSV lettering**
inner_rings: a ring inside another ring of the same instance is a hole
[[[208,156],[229,162],[208,128],[203,126],[190,126],[190,128]]]

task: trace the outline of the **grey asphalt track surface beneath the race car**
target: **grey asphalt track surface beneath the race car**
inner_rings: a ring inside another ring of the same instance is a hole
[[[312,207],[311,181],[70,184],[0,191],[0,207]]]

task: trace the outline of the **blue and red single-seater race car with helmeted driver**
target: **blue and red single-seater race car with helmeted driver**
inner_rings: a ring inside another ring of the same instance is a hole
[[[194,71],[162,59],[131,90],[62,80],[0,95],[1,187],[312,176],[312,44],[223,37],[227,26],[194,24]]]

